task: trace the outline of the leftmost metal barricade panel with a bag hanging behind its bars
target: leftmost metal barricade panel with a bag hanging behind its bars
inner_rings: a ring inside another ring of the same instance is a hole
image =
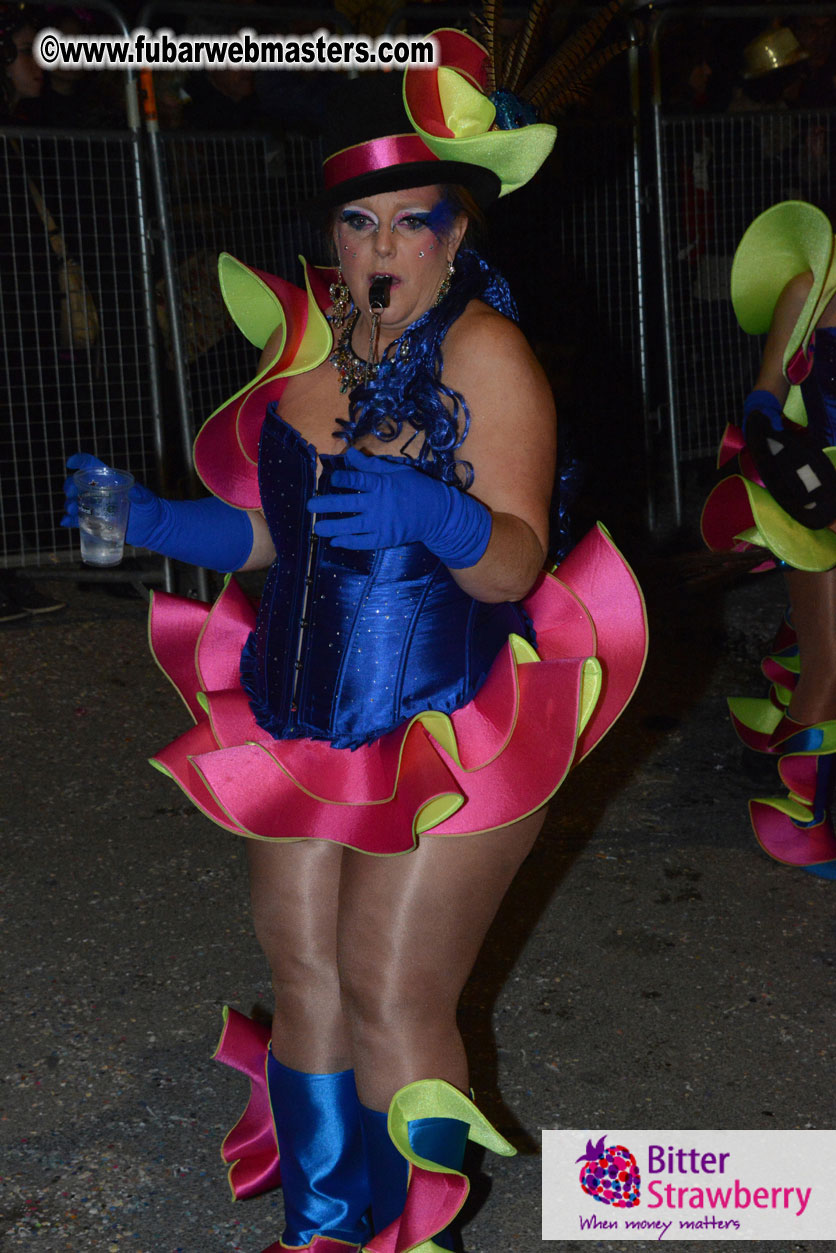
[[[0,565],[66,561],[79,449],[158,481],[145,238],[130,134],[0,137]]]

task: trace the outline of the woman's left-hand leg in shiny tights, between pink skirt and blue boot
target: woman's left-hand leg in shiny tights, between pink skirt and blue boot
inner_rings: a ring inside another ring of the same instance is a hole
[[[351,1066],[337,975],[337,845],[247,841],[256,935],[273,977],[273,1054],[293,1070]]]

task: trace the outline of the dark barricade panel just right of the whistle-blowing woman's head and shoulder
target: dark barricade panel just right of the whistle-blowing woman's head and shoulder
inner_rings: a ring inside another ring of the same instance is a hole
[[[630,123],[565,123],[553,158],[494,211],[491,238],[555,393],[585,516],[648,509],[643,274]],[[500,227],[501,223],[501,227]]]

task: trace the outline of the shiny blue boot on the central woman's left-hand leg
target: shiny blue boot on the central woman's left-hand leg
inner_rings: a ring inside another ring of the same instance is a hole
[[[333,1242],[345,1242],[345,1253],[358,1249],[371,1228],[353,1070],[308,1075],[271,1051],[267,1088],[285,1194],[285,1232],[271,1248],[331,1253]]]

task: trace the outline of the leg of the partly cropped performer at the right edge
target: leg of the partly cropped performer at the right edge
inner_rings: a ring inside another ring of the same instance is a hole
[[[836,718],[836,569],[787,570],[801,677],[788,714],[813,724]]]

